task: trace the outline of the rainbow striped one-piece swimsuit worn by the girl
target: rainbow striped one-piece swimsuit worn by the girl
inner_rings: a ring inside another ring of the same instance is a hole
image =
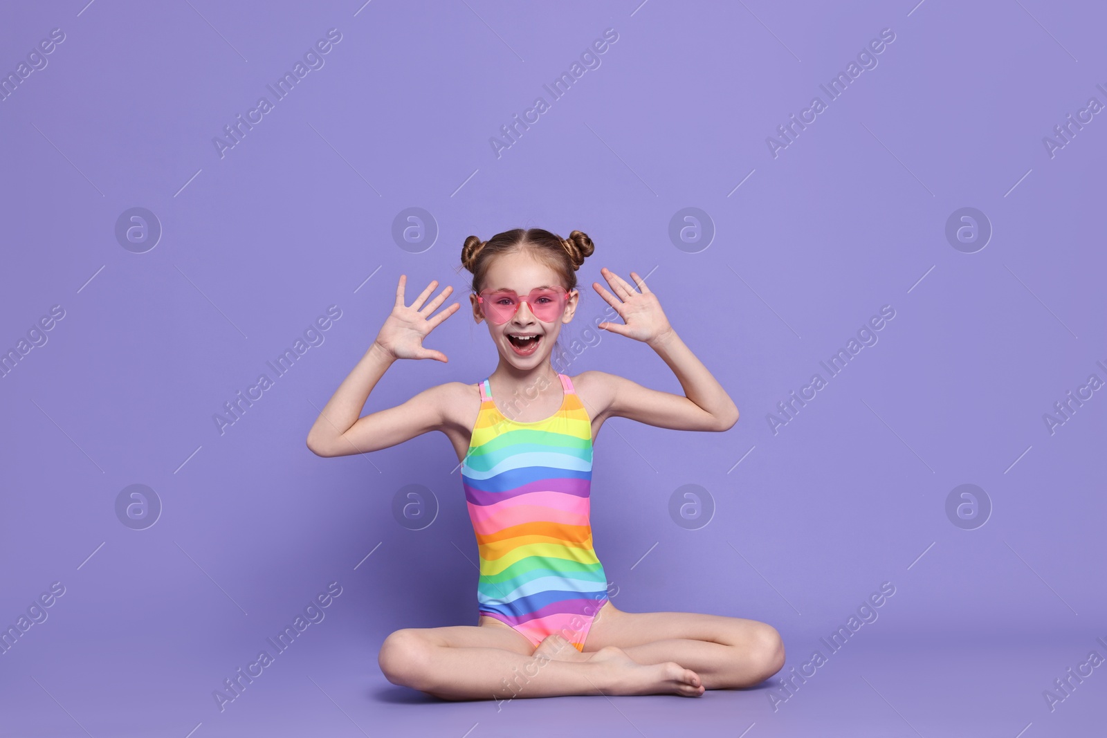
[[[462,482],[480,555],[480,614],[535,646],[559,633],[583,651],[608,585],[589,523],[591,420],[569,377],[558,377],[561,407],[535,423],[504,416],[488,380],[480,383]]]

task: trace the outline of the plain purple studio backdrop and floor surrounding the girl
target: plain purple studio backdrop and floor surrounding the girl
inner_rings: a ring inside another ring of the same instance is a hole
[[[0,735],[1032,738],[1104,724],[1101,668],[1054,711],[1042,694],[1107,656],[1107,398],[1053,434],[1043,420],[1089,374],[1107,380],[1093,210],[1107,122],[1053,157],[1043,145],[1089,97],[1107,103],[1095,3],[77,0],[3,14],[4,75],[51,29],[65,40],[0,102],[0,349],[51,305],[65,316],[0,380],[0,623],[52,582],[65,594],[0,655]],[[220,157],[213,138],[332,28],[325,64]],[[600,66],[550,102],[542,85],[609,28]],[[827,102],[819,84],[884,28],[878,65]],[[815,95],[826,111],[774,157],[766,137]],[[489,138],[537,96],[550,108],[497,158]],[[145,253],[115,238],[132,207],[164,231]],[[433,217],[433,245],[394,240],[410,207]],[[710,217],[706,248],[669,236],[686,207]],[[974,253],[945,238],[962,207],[993,229]],[[461,246],[531,226],[596,242],[562,333],[592,345],[566,373],[681,392],[648,346],[587,331],[607,309],[600,268],[634,270],[742,413],[723,434],[606,425],[592,526],[619,607],[772,623],[783,676],[896,586],[777,710],[775,680],[497,709],[381,675],[391,631],[476,622],[457,460],[441,434],[337,459],[304,437],[401,273],[408,300],[437,279],[463,301],[427,340],[449,363],[397,363],[365,412],[487,376]],[[213,415],[272,377],[266,362],[329,305],[342,316],[325,341],[220,435]],[[819,362],[882,305],[896,316],[878,343],[774,434],[767,414],[826,378]],[[146,530],[115,513],[132,484],[164,506]],[[412,484],[439,506],[420,531],[392,514]],[[669,513],[689,484],[715,507],[699,530]],[[945,513],[962,484],[992,501],[975,530]],[[332,581],[325,620],[220,713],[213,690]]]

